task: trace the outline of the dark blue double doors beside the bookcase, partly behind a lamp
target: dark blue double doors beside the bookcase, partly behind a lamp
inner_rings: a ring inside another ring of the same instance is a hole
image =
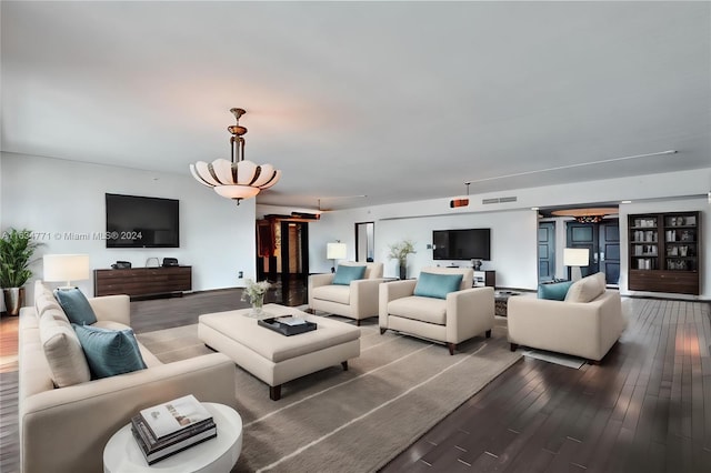
[[[590,264],[580,268],[583,276],[603,272],[608,284],[620,282],[619,219],[604,219],[599,223],[568,222],[565,233],[568,248],[587,248],[590,251]]]

